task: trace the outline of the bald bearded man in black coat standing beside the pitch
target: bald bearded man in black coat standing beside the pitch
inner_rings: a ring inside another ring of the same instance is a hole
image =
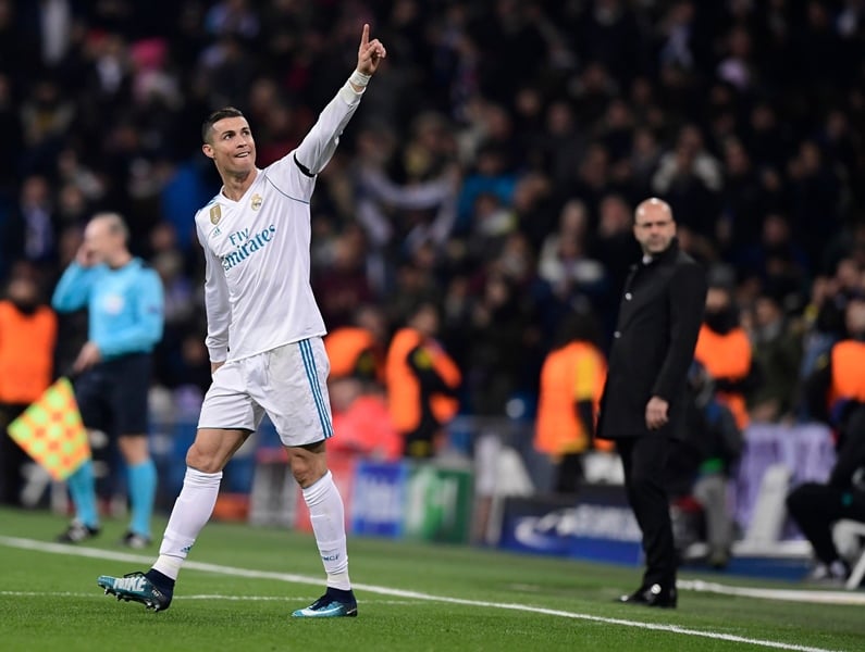
[[[619,600],[675,607],[676,548],[664,468],[683,430],[685,381],[703,318],[706,275],[676,239],[669,204],[646,199],[634,212],[643,250],[619,305],[597,432],[616,441],[625,488],[643,532],[643,584]]]

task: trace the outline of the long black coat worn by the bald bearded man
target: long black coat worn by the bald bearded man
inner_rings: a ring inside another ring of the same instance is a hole
[[[631,267],[619,305],[597,436],[642,437],[653,396],[669,402],[669,421],[654,432],[681,438],[685,380],[706,301],[706,274],[674,239],[648,263]]]

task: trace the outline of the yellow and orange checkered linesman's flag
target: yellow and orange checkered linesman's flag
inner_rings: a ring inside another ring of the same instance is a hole
[[[54,480],[90,459],[90,444],[69,378],[60,378],[9,425],[9,436]]]

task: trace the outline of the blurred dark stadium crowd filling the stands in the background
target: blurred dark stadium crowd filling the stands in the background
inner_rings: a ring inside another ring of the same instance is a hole
[[[764,367],[750,405],[794,413],[787,365],[804,374],[865,292],[862,0],[0,0],[0,280],[50,296],[86,220],[121,212],[165,286],[156,381],[206,387],[201,121],[238,106],[273,162],[362,22],[388,58],[312,203],[329,328],[372,304],[393,329],[434,299],[462,411],[501,415],[567,314],[611,331],[655,195],[733,291]],[[84,318],[61,317],[59,371]]]

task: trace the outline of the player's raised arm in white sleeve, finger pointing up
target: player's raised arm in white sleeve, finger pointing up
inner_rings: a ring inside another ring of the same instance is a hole
[[[369,35],[370,26],[364,24],[358,47],[357,68],[319,114],[318,122],[295,150],[295,163],[308,176],[321,172],[333,156],[343,129],[357,110],[360,96],[379,70],[382,59],[387,55],[381,41],[378,38],[370,40]]]

